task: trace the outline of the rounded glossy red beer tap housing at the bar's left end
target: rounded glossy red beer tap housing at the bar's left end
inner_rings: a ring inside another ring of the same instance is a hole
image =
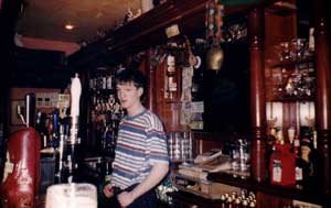
[[[35,207],[40,183],[40,135],[33,128],[9,136],[1,184],[3,208]]]

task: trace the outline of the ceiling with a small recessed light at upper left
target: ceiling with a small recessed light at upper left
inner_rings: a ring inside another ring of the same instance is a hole
[[[78,43],[122,23],[128,8],[137,13],[140,0],[26,0],[17,31],[25,37]],[[75,28],[65,30],[67,23]]]

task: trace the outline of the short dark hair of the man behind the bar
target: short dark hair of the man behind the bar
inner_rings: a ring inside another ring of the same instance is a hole
[[[116,85],[132,83],[137,88],[142,88],[143,92],[141,95],[141,100],[145,99],[147,95],[148,80],[146,76],[138,69],[126,68],[119,70],[116,76]]]

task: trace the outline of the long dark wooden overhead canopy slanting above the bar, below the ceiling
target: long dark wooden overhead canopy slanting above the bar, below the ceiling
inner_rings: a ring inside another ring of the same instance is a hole
[[[256,1],[257,3],[225,7],[225,15],[247,12],[256,4],[266,7],[276,0]],[[105,58],[120,62],[128,54],[148,50],[150,46],[168,41],[166,28],[178,24],[181,34],[194,34],[204,28],[205,3],[207,0],[168,0],[152,10],[131,20],[68,57],[73,68],[81,69],[95,59]]]

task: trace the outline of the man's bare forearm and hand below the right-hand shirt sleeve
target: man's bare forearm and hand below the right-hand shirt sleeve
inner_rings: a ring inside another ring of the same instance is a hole
[[[118,201],[122,207],[127,207],[139,196],[143,195],[156,185],[158,185],[161,179],[167,175],[169,171],[168,163],[154,163],[150,174],[131,191],[124,191],[118,195]]]

